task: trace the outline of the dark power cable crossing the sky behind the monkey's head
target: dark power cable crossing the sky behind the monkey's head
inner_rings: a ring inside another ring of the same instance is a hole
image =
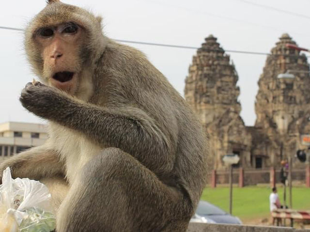
[[[0,29],[5,30],[14,30],[14,31],[24,31],[23,29],[19,28],[11,28],[11,27],[2,27]],[[164,46],[164,47],[174,47],[174,48],[185,48],[185,49],[200,49],[201,47],[194,47],[194,46],[181,46],[181,45],[170,45],[170,44],[158,44],[158,43],[150,43],[150,42],[141,42],[141,41],[131,41],[131,40],[120,40],[120,39],[113,39],[118,42],[122,43],[131,43],[131,44],[140,44],[140,45],[150,45],[150,46]],[[208,49],[210,51],[218,51],[216,49]],[[272,55],[266,52],[254,52],[254,51],[240,51],[240,50],[225,50],[225,52],[232,52],[232,53],[241,53],[241,54],[251,54],[251,55]],[[290,56],[290,55],[287,55]],[[295,55],[291,55],[295,56]]]

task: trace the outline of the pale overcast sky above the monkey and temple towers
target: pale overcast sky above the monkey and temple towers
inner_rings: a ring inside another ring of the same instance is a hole
[[[267,5],[287,14],[249,4]],[[269,52],[280,35],[287,32],[299,46],[310,48],[309,0],[63,0],[92,10],[104,18],[104,32],[121,40],[200,47],[213,34],[227,50]],[[45,0],[3,1],[0,26],[25,28],[46,5]],[[309,16],[307,16],[309,15]],[[194,49],[136,45],[184,95],[185,78]],[[0,30],[0,123],[38,123],[18,101],[20,91],[31,81],[23,50],[23,34]],[[229,53],[239,75],[241,116],[255,123],[257,81],[266,56]],[[308,53],[308,55],[310,55]]]

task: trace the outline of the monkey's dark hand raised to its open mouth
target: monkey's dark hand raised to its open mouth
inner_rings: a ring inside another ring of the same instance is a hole
[[[24,108],[39,117],[50,119],[61,107],[61,102],[66,102],[65,94],[53,87],[40,82],[29,82],[22,90],[19,100]],[[54,113],[52,113],[54,112]]]

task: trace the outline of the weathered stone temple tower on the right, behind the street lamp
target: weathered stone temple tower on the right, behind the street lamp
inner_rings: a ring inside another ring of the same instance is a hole
[[[279,166],[302,148],[300,136],[310,133],[310,77],[307,57],[286,44],[283,34],[266,59],[258,85],[252,134],[252,166]],[[297,162],[296,162],[297,164]]]

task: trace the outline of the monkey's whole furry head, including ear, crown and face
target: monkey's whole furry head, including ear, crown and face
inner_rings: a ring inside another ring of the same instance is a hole
[[[47,85],[87,100],[93,73],[106,39],[101,17],[82,8],[48,0],[25,30],[25,50],[32,71]]]

